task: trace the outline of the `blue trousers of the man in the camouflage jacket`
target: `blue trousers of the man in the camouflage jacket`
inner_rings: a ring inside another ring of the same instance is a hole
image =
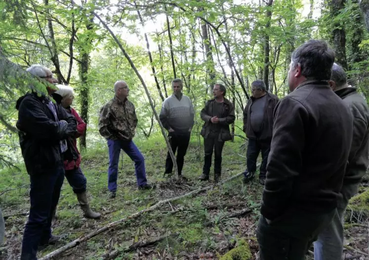
[[[109,147],[109,170],[108,170],[108,188],[110,191],[117,190],[118,163],[121,149],[134,161],[137,185],[147,184],[145,159],[140,150],[135,146],[132,140],[108,140]]]

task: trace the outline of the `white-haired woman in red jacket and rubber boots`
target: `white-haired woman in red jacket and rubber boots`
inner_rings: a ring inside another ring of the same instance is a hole
[[[86,123],[83,122],[77,111],[71,107],[74,99],[73,88],[65,85],[57,85],[57,87],[59,90],[52,95],[56,103],[61,104],[62,107],[65,108],[69,113],[73,114],[77,120],[77,134],[73,139],[72,144],[78,152],[78,158],[75,160],[64,161],[65,177],[67,178],[69,185],[72,186],[73,192],[77,195],[77,199],[84,213],[84,217],[88,219],[98,219],[101,217],[101,214],[93,212],[88,204],[86,192],[87,181],[80,168],[81,154],[77,149],[77,138],[82,136],[86,130]]]

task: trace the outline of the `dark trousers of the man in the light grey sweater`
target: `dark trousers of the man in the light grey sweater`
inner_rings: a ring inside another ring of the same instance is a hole
[[[183,133],[183,134],[177,134],[175,132],[169,132],[169,143],[170,147],[173,150],[173,153],[175,154],[175,151],[177,150],[177,157],[176,162],[178,166],[178,174],[182,174],[182,168],[183,168],[183,162],[184,162],[184,156],[186,155],[188,144],[190,143],[191,133]],[[173,170],[173,161],[170,157],[169,151],[166,154],[166,160],[165,160],[165,174],[172,173]]]

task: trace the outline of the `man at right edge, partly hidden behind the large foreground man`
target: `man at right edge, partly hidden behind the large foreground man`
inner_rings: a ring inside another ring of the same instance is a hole
[[[343,222],[348,201],[358,192],[359,184],[369,165],[369,108],[355,87],[347,83],[345,71],[334,63],[329,84],[334,93],[350,108],[354,118],[352,144],[341,196],[333,220],[326,225],[314,242],[315,260],[340,260],[343,250]]]

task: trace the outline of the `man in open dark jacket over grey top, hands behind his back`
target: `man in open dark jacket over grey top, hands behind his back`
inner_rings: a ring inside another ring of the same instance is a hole
[[[264,185],[266,165],[272,142],[273,111],[277,105],[277,96],[266,91],[264,81],[255,80],[251,83],[252,97],[244,110],[244,132],[248,138],[244,183],[254,178],[256,160],[261,151],[259,183]]]

